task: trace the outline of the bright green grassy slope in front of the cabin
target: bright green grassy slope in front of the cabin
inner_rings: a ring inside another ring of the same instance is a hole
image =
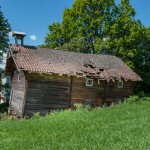
[[[149,149],[150,102],[0,122],[0,149]]]

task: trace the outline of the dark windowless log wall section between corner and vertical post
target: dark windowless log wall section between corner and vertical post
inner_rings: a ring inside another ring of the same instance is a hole
[[[27,74],[25,115],[45,114],[70,105],[70,78],[58,75]]]

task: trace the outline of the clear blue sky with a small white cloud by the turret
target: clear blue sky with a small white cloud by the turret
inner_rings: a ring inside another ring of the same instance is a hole
[[[120,0],[116,0],[119,3]],[[13,31],[25,32],[26,45],[40,45],[48,33],[48,25],[61,21],[65,7],[70,8],[74,0],[0,0],[0,6]],[[144,26],[150,26],[150,0],[131,0],[136,18]],[[10,43],[14,39],[10,38]]]

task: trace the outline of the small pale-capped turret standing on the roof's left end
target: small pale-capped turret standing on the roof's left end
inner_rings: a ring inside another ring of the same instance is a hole
[[[15,38],[15,44],[18,44],[18,40],[21,40],[21,45],[24,45],[23,39],[26,36],[24,32],[13,31],[12,36]]]

